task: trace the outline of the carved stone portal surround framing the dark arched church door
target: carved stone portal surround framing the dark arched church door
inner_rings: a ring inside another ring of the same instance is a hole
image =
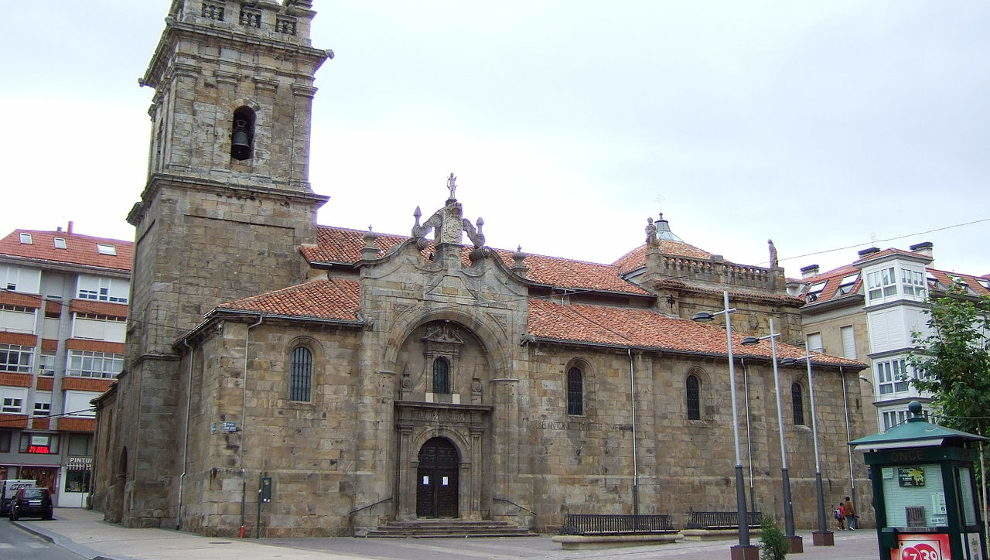
[[[395,413],[398,518],[481,519],[491,407],[396,401]]]

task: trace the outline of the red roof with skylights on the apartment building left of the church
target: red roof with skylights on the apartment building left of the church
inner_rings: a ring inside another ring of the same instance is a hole
[[[21,243],[22,233],[31,234],[32,242],[30,244]],[[55,248],[53,240],[56,237],[65,239],[65,249]],[[117,248],[117,254],[101,255],[96,251],[97,244],[113,245]],[[64,231],[18,229],[0,239],[0,255],[130,272],[134,260],[134,243],[120,239],[90,237],[78,233],[70,235]]]

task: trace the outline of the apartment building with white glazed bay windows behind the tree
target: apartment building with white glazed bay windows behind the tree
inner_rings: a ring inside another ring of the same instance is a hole
[[[929,293],[956,286],[964,297],[990,294],[990,275],[940,270],[933,249],[929,242],[909,250],[871,247],[834,270],[806,266],[802,278],[788,286],[805,300],[801,317],[809,348],[870,364],[860,382],[873,406],[864,403],[862,411],[879,431],[907,420],[912,400],[921,401],[926,410],[931,401],[911,385],[918,372],[908,363],[914,333],[929,332]]]

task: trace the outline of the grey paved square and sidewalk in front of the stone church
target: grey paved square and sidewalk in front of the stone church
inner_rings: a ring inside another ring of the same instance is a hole
[[[732,541],[599,549],[561,550],[549,537],[454,539],[227,539],[168,529],[125,529],[103,521],[99,512],[56,509],[55,521],[17,521],[16,525],[86,559],[100,560],[728,560]],[[811,545],[803,534],[804,554],[791,560],[876,560],[872,529],[839,531],[834,547]],[[758,544],[758,541],[754,541]]]

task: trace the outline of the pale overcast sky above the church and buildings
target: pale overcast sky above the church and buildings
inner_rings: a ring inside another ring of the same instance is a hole
[[[167,0],[21,2],[0,33],[0,230],[133,239]],[[322,224],[408,234],[459,177],[489,245],[611,262],[663,211],[789,275],[935,243],[990,273],[990,3],[316,0]],[[955,224],[980,223],[932,233]],[[913,234],[913,235],[909,235]],[[895,241],[884,239],[907,236]],[[822,255],[787,257],[856,245]]]

